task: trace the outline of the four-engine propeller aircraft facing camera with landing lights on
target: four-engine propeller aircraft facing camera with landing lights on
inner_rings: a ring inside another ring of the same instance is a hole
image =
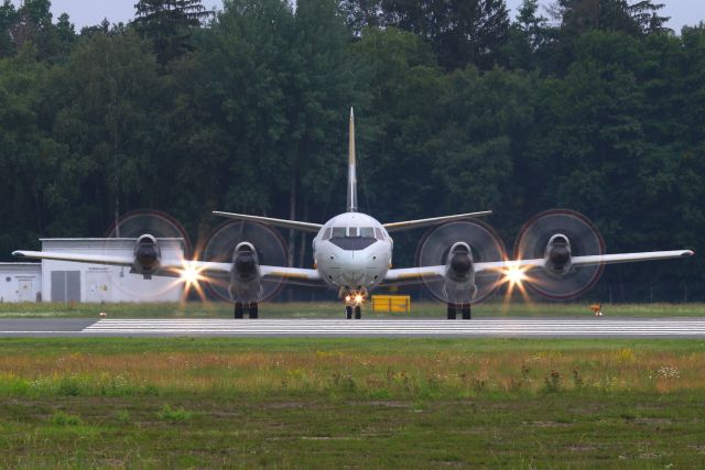
[[[553,210],[539,215],[521,231],[510,260],[494,230],[477,219],[491,211],[381,223],[358,210],[355,118],[350,110],[347,210],[323,225],[215,211],[237,221],[235,231],[216,233],[212,261],[162,259],[152,233],[137,237],[131,256],[15,251],[18,258],[63,260],[129,267],[151,276],[177,276],[189,284],[223,280],[221,291],[235,304],[235,318],[259,317],[259,303],[273,296],[282,283],[327,286],[338,292],[348,319],[361,318],[369,293],[380,286],[424,284],[447,306],[447,318],[471,318],[471,305],[507,283],[552,299],[575,298],[587,291],[611,263],[685,258],[690,250],[606,254],[599,232],[584,216]],[[283,242],[271,229],[315,233],[314,266],[290,267],[282,261]],[[390,233],[432,228],[417,251],[417,266],[392,267],[394,242]],[[210,249],[209,249],[210,247]],[[224,259],[223,256],[227,256]],[[274,263],[273,261],[278,261]],[[217,284],[217,282],[216,282]]]

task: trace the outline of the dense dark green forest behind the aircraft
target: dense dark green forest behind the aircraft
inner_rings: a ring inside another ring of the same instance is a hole
[[[79,32],[50,7],[0,6],[0,260],[140,208],[194,240],[212,210],[324,221],[351,106],[381,221],[492,209],[511,248],[572,208],[609,252],[705,252],[705,24],[672,31],[651,0],[524,0],[514,20],[503,0],[140,0]],[[397,237],[397,266],[422,234]],[[611,266],[589,296],[702,300],[704,267]]]

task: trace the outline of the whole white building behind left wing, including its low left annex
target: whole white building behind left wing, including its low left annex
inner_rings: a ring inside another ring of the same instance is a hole
[[[42,239],[42,251],[132,256],[134,239]],[[182,259],[182,239],[158,239],[162,259]],[[0,263],[4,302],[178,302],[183,283],[175,277],[145,280],[129,267],[68,261]]]

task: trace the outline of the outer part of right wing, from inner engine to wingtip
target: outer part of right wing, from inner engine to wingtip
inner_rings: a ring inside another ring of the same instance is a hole
[[[691,250],[672,250],[672,251],[648,251],[642,253],[616,253],[616,254],[596,254],[587,256],[573,256],[571,263],[573,266],[589,266],[595,264],[615,264],[615,263],[633,263],[638,261],[657,261],[669,260],[674,258],[692,256]],[[497,271],[510,267],[543,267],[545,260],[508,260],[508,261],[490,261],[486,263],[476,263],[475,272]]]

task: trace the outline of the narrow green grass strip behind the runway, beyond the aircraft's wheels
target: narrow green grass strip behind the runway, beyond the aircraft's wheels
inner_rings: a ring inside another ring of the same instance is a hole
[[[226,303],[185,304],[2,304],[0,318],[84,317],[97,318],[100,311],[109,318],[230,318],[232,306]],[[261,318],[340,318],[343,307],[329,303],[267,303],[260,307]],[[614,304],[604,305],[606,316],[615,317],[701,317],[705,304]],[[485,303],[473,308],[475,317],[588,317],[589,303]],[[435,303],[413,303],[411,314],[375,314],[370,317],[445,317],[445,307]]]

